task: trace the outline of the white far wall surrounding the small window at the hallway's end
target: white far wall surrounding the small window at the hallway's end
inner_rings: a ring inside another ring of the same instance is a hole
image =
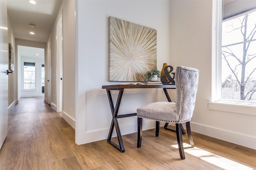
[[[21,56],[20,57],[20,76],[21,76],[21,81],[20,81],[20,87],[21,87],[21,95],[20,97],[40,97],[42,96],[42,64],[44,64],[44,58],[39,58],[39,57],[26,57],[26,56]],[[24,62],[28,63],[35,63],[36,66],[36,89],[33,90],[24,90],[23,89],[23,66]]]

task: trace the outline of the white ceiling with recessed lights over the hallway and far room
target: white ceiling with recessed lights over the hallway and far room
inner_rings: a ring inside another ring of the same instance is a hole
[[[7,0],[8,18],[15,38],[46,43],[62,0],[35,1],[36,4],[28,0]],[[30,27],[30,24],[36,27]],[[35,34],[29,34],[31,31]],[[42,53],[39,48],[25,46],[19,46],[18,50],[21,56],[28,57]]]

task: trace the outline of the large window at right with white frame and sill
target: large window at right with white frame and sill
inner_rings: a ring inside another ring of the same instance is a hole
[[[208,109],[256,115],[256,92],[252,87],[256,85],[256,52],[254,50],[256,48],[256,41],[254,41],[256,33],[250,34],[253,30],[255,31],[251,24],[256,23],[256,21],[255,19],[254,21],[251,20],[250,17],[254,15],[251,13],[256,11],[256,3],[255,1],[244,0],[213,2],[212,100],[208,102]],[[246,14],[248,14],[249,20],[247,18],[245,29],[247,40],[244,40],[242,32],[245,25],[239,28],[237,23],[244,24]],[[244,47],[247,47],[246,53],[244,53]],[[245,58],[243,58],[244,55]],[[242,64],[245,67],[242,67]],[[241,78],[244,80],[243,83],[241,83]],[[247,84],[245,84],[246,81]],[[242,92],[240,85],[244,86]],[[248,90],[249,88],[252,90]],[[241,96],[244,100],[241,100]]]

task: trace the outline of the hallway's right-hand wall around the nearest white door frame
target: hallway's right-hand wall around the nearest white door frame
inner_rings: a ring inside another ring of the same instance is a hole
[[[62,13],[63,11],[63,13]],[[51,102],[57,106],[57,41],[56,27],[62,16],[63,23],[63,103],[62,117],[75,127],[75,63],[76,63],[76,43],[75,43],[75,1],[64,0],[60,6],[56,20],[52,26],[49,40],[52,43],[52,68],[51,68]],[[49,41],[48,40],[48,41]],[[55,96],[55,97],[54,97]]]

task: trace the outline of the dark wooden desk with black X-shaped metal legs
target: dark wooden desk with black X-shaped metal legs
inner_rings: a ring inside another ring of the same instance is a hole
[[[126,88],[162,88],[164,90],[164,94],[166,95],[166,98],[168,100],[168,102],[171,102],[170,96],[167,92],[166,89],[175,89],[176,86],[175,84],[167,84],[167,85],[162,85],[162,84],[145,84],[145,85],[120,85],[120,84],[116,84],[116,85],[106,85],[106,86],[102,86],[102,89],[106,89],[107,90],[107,94],[108,94],[108,100],[109,100],[109,104],[110,104],[110,109],[112,112],[112,122],[110,125],[110,129],[109,129],[109,133],[108,133],[108,143],[110,143],[111,145],[113,145],[114,147],[116,147],[116,149],[120,150],[120,152],[124,152],[124,143],[122,140],[122,135],[120,133],[120,129],[119,129],[119,125],[118,125],[118,118],[122,118],[122,117],[130,117],[130,116],[136,116],[137,113],[129,113],[129,114],[124,114],[124,115],[117,115],[118,114],[118,109],[121,103],[121,99],[122,99],[122,95],[124,92],[124,89]],[[112,100],[112,96],[111,96],[111,90],[118,90],[118,97],[117,97],[117,101],[116,101],[116,107],[114,107],[113,104],[113,100]],[[165,129],[167,128],[168,123],[166,123],[164,125]],[[116,143],[111,141],[111,137],[112,137],[112,133],[114,130],[114,127],[116,128],[116,134],[117,134],[117,138],[118,138],[118,143],[119,145],[117,145]],[[171,131],[174,131],[172,129],[168,129]]]

